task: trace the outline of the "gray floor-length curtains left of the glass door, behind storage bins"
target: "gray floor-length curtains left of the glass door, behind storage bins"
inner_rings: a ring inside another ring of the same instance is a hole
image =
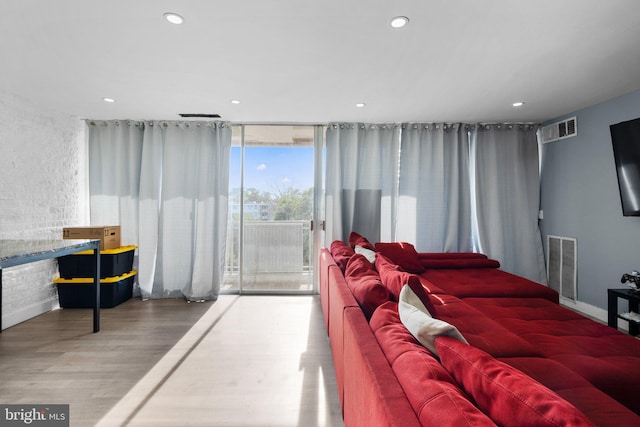
[[[224,274],[231,127],[89,121],[91,222],[138,246],[143,298],[216,299]]]

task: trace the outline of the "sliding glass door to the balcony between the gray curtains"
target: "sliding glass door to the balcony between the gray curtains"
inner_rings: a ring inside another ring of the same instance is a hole
[[[314,292],[315,126],[234,128],[224,289]]]

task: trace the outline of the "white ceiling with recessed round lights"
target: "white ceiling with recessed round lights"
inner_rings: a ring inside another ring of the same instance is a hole
[[[81,118],[537,122],[640,89],[637,0],[2,0],[0,12],[0,91]],[[391,28],[397,15],[409,24]]]

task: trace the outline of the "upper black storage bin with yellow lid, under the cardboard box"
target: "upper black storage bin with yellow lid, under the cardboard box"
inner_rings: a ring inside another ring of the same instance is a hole
[[[100,251],[100,278],[122,276],[133,269],[136,246],[121,246]],[[94,277],[93,251],[82,251],[58,258],[60,277]]]

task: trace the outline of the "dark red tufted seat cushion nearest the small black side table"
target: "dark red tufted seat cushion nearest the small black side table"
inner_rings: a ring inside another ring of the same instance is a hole
[[[464,302],[640,414],[639,340],[544,299],[465,298]]]

